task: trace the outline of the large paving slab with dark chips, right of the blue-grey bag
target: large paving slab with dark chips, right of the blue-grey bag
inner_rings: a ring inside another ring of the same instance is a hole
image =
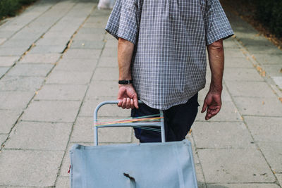
[[[275,182],[273,173],[257,149],[198,149],[197,151],[207,183]]]

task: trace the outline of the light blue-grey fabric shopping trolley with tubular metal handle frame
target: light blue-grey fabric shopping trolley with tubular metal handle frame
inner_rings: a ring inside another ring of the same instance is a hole
[[[94,122],[97,122],[97,112],[101,106],[117,102],[104,101],[99,104],[94,112]],[[74,144],[71,148],[71,187],[196,188],[191,143],[186,139],[164,142],[163,120],[160,123],[124,123],[101,127],[136,124],[160,126],[162,142],[98,146],[98,127],[95,126],[94,146]]]

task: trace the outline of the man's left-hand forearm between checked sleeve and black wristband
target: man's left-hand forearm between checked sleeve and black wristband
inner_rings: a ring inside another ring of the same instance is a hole
[[[118,70],[119,80],[132,80],[130,64],[133,56],[134,44],[125,40],[118,39]]]

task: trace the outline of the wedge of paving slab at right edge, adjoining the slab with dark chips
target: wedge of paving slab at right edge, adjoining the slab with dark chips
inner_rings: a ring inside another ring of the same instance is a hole
[[[282,142],[259,142],[266,161],[275,173],[282,173]]]

